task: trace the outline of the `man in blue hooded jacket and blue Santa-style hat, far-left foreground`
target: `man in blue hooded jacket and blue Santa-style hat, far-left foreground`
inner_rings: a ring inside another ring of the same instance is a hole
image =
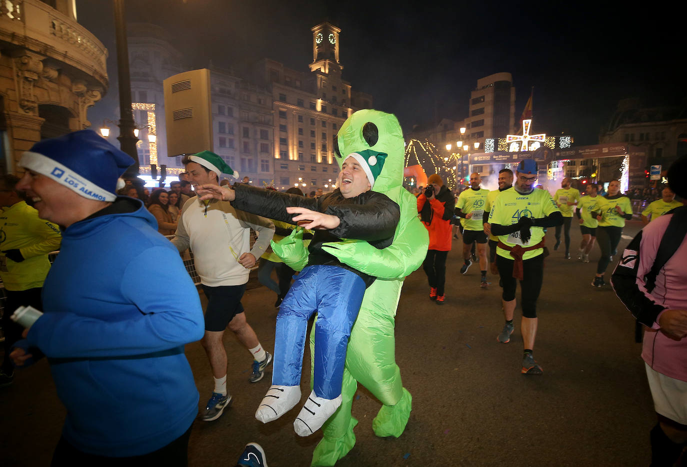
[[[132,163],[89,130],[21,157],[17,188],[63,235],[43,287],[45,314],[12,351],[20,367],[47,356],[67,409],[52,465],[187,463],[199,395],[183,346],[203,337],[203,312],[155,218],[114,194]]]

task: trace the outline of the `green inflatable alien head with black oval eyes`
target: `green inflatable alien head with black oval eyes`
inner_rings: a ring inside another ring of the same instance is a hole
[[[403,184],[403,131],[391,113],[359,110],[343,122],[334,140],[339,169],[351,153],[372,149],[387,154],[384,167],[374,182],[374,191],[385,193]]]

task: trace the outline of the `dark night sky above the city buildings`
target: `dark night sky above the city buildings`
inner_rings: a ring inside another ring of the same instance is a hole
[[[79,23],[110,53],[111,87],[89,111],[94,126],[118,105],[111,3],[77,0]],[[576,145],[598,142],[621,98],[647,107],[686,102],[684,6],[395,3],[132,0],[126,7],[129,21],[167,28],[192,68],[212,61],[240,69],[267,57],[307,72],[311,28],[329,21],[341,29],[343,78],[372,94],[376,109],[395,113],[405,131],[465,118],[477,79],[497,72],[513,75],[516,120],[534,87],[532,131],[573,135]]]

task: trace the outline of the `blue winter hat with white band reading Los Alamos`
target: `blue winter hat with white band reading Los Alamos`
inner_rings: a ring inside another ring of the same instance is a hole
[[[82,197],[114,201],[117,179],[134,160],[91,130],[37,142],[19,165],[55,180]]]

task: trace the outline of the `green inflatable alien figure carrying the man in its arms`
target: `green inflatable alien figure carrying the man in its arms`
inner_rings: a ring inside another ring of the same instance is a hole
[[[422,265],[429,237],[417,217],[415,197],[402,186],[404,142],[395,116],[360,110],[343,123],[335,140],[339,166],[350,153],[365,149],[388,154],[374,191],[387,195],[400,206],[401,220],[394,242],[383,250],[357,240],[325,244],[342,263],[377,279],[365,291],[348,341],[341,406],[322,427],[324,437],[315,448],[312,466],[333,466],[355,444],[353,428],[358,421],[350,410],[358,382],[383,404],[372,422],[372,429],[379,437],[400,436],[412,406],[412,397],[401,383],[401,371],[394,356],[394,318],[403,280]],[[301,270],[307,263],[308,251],[298,232],[273,243],[273,250],[295,270]],[[311,333],[311,354],[313,349],[314,334]]]

